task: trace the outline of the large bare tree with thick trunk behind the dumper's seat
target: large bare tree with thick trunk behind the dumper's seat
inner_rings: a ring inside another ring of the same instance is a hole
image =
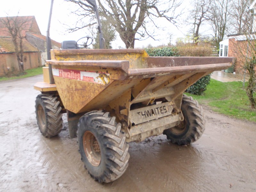
[[[92,16],[92,7],[84,0],[65,0],[79,5],[74,13],[82,18]],[[181,12],[175,12],[181,2],[176,0],[99,0],[99,12],[118,32],[126,48],[134,48],[135,40],[148,37],[154,39],[153,27],[158,27],[156,18],[165,18],[177,25]],[[76,25],[71,30],[78,30],[94,24]],[[137,36],[136,36],[137,34]]]

